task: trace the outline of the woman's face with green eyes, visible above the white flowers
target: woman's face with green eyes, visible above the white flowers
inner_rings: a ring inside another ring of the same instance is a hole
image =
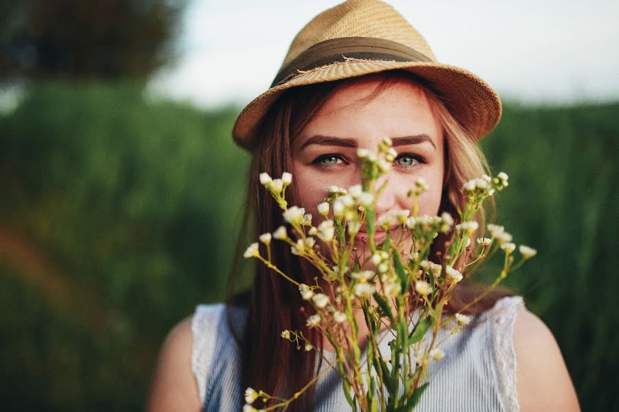
[[[430,190],[420,197],[419,214],[435,216],[439,210],[444,175],[444,139],[419,86],[396,80],[378,95],[380,79],[360,79],[340,89],[323,105],[314,119],[292,141],[294,186],[301,207],[322,216],[317,205],[327,197],[326,187],[347,189],[361,182],[358,148],[378,151],[384,137],[390,137],[398,152],[390,172],[376,185],[389,184],[376,203],[376,216],[395,209],[413,209],[406,193],[418,178]],[[364,231],[365,229],[362,229]],[[380,229],[379,229],[380,230]],[[358,236],[364,235],[361,232]],[[377,233],[380,241],[384,233]]]

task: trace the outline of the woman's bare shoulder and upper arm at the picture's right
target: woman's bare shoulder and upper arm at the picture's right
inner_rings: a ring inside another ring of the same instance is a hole
[[[574,384],[550,329],[522,308],[514,323],[520,410],[580,411]]]

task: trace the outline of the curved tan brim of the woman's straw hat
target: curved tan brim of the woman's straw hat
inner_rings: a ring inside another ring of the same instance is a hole
[[[237,117],[232,137],[239,146],[248,150],[254,148],[257,129],[263,117],[287,89],[389,70],[409,71],[426,80],[448,111],[477,140],[490,133],[501,119],[501,100],[497,93],[468,70],[435,62],[347,60],[303,71],[259,95]]]

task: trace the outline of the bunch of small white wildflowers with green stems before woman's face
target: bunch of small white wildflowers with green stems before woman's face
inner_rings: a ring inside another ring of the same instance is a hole
[[[516,246],[512,236],[498,225],[487,226],[489,238],[472,239],[479,229],[473,219],[489,196],[508,185],[507,174],[484,175],[466,182],[462,187],[466,205],[464,210],[458,210],[460,223],[455,226],[448,213],[417,216],[419,198],[428,190],[422,179],[408,193],[412,211],[395,210],[377,217],[374,206],[388,183],[385,180],[375,187],[376,181],[390,170],[397,153],[391,141],[384,139],[378,153],[359,149],[357,155],[361,184],[347,190],[327,187],[327,197],[318,205],[323,216],[318,226],[312,225],[312,216],[305,214],[302,207],[288,207],[285,190],[292,183],[290,173],[285,172],[281,179],[272,179],[266,173],[260,176],[262,185],[281,207],[290,230],[282,226],[273,233],[263,233],[259,240],[265,253],[255,242],[248,247],[245,257],[257,258],[298,286],[301,297],[314,309],[307,317],[308,327],[320,330],[334,348],[336,358],[327,361],[329,367],[290,399],[246,389],[244,412],[286,409],[330,368],[343,379],[351,410],[412,411],[428,386],[428,366],[444,356],[444,339],[438,340],[437,332],[447,328],[447,336],[451,336],[470,322],[465,314],[444,312],[456,284],[497,251],[502,252],[499,276],[484,293],[470,301],[471,306],[536,253],[521,245],[521,258],[514,264]],[[356,253],[356,235],[362,225],[371,253],[360,256]],[[375,239],[377,227],[380,242]],[[442,252],[442,264],[438,264],[431,261],[431,246],[441,233],[449,240]],[[321,279],[316,278],[315,284],[300,284],[280,271],[271,262],[270,245],[274,240],[290,244],[291,252],[309,261]],[[478,247],[471,247],[473,242]],[[360,328],[367,330],[365,355],[360,347]],[[385,328],[391,332],[388,357],[380,352],[377,341]],[[301,331],[284,330],[281,336],[297,347],[315,350]],[[271,404],[261,409],[258,400]]]

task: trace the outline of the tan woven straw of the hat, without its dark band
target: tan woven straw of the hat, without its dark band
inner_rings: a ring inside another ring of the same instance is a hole
[[[499,122],[501,102],[495,91],[470,71],[436,62],[423,36],[391,5],[382,1],[349,0],[318,14],[294,38],[282,67],[317,43],[345,37],[394,41],[424,54],[431,61],[396,62],[347,58],[345,61],[299,71],[283,84],[259,95],[243,109],[232,130],[232,137],[237,144],[248,149],[255,146],[255,134],[261,120],[286,89],[398,69],[424,78],[442,98],[450,113],[473,137],[481,139]],[[343,58],[345,57],[343,55]]]

